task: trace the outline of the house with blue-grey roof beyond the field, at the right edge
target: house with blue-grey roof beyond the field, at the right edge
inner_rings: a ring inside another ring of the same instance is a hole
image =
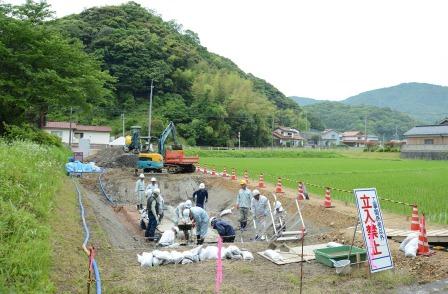
[[[406,133],[401,147],[404,158],[448,159],[448,118],[437,125],[415,126]]]

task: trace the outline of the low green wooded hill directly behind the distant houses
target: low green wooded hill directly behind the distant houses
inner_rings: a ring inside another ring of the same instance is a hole
[[[395,138],[395,132],[401,136],[411,127],[421,122],[409,115],[376,106],[351,106],[340,102],[321,102],[305,106],[311,127],[319,130],[337,131],[358,130],[364,132],[367,116],[367,131],[385,139]]]

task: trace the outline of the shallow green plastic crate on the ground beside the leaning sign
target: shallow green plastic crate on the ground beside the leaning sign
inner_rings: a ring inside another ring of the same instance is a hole
[[[316,255],[316,260],[322,264],[329,267],[334,267],[333,260],[347,259],[348,252],[350,251],[349,245],[343,245],[338,247],[329,247],[323,249],[315,249],[314,254]],[[358,257],[359,256],[359,257]],[[366,261],[367,251],[363,248],[352,247],[352,252],[350,253],[350,262],[356,263],[361,261]]]

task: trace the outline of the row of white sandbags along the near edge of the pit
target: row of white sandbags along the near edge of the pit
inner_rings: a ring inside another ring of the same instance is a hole
[[[240,250],[237,246],[230,245],[227,248],[221,248],[221,256],[219,258],[252,261],[254,256],[250,251]],[[203,245],[183,252],[154,250],[151,253],[143,252],[141,255],[137,254],[137,260],[142,267],[187,264],[216,259],[218,259],[218,247],[207,246],[204,248]]]

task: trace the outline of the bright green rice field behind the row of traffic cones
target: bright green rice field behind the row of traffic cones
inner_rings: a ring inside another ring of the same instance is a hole
[[[201,166],[216,167],[222,171],[236,168],[239,176],[244,170],[252,181],[263,173],[271,183],[277,177],[283,184],[297,187],[297,181],[345,190],[354,188],[377,188],[381,197],[410,204],[417,204],[426,213],[427,219],[437,223],[448,223],[447,179],[448,165],[445,161],[400,160],[397,158],[220,158],[201,157]],[[308,190],[324,195],[324,189],[308,185]],[[352,193],[333,191],[332,196],[347,202],[354,202]],[[408,206],[382,201],[383,209],[410,215]]]

